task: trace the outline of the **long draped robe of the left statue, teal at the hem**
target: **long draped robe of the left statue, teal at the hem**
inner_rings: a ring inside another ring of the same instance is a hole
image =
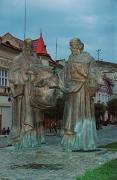
[[[31,73],[38,70],[39,63],[36,57],[28,56],[24,52],[14,58],[9,70],[9,82],[13,96],[11,139],[12,144],[18,149],[40,145],[40,139],[34,128],[34,112],[30,104],[31,82],[33,81]],[[40,118],[38,121],[42,121],[42,112],[38,114]]]

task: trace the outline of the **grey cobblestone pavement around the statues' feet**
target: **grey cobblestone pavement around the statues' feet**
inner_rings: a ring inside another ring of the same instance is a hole
[[[117,141],[117,126],[98,131],[98,145]],[[46,136],[47,143],[38,149],[15,151],[0,148],[0,177],[9,180],[75,180],[88,169],[117,158],[116,151],[64,152],[60,136]]]

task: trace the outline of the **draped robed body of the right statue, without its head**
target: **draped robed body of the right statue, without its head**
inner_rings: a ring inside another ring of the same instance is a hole
[[[99,77],[94,74],[94,60],[89,53],[70,55],[60,78],[60,87],[66,94],[62,145],[67,150],[96,148],[96,127],[92,96]],[[96,73],[96,72],[95,72]]]

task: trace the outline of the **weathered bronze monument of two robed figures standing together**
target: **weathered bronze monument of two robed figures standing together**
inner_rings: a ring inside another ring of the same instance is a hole
[[[62,146],[67,150],[96,148],[93,96],[100,84],[92,56],[83,52],[80,39],[70,41],[71,55],[56,77],[32,51],[32,41],[24,41],[22,53],[9,71],[12,94],[12,144],[18,148],[38,147],[44,142],[44,110],[56,105],[56,89],[66,95]],[[95,71],[95,72],[94,72]]]

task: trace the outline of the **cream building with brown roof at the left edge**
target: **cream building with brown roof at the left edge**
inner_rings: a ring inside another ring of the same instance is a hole
[[[11,103],[8,102],[8,70],[13,58],[21,51],[19,41],[7,33],[0,37],[0,131],[11,126]]]

